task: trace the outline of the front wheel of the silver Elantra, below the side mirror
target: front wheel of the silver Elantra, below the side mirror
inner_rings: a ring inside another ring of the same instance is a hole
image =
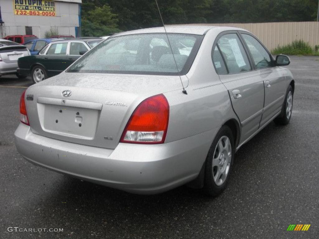
[[[274,119],[274,122],[278,125],[286,125],[291,119],[291,113],[293,111],[293,88],[289,85],[284,104],[281,108],[280,115]]]

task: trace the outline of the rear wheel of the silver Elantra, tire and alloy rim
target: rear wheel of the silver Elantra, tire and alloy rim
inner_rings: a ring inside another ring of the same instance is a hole
[[[204,189],[210,196],[218,196],[227,186],[234,163],[234,136],[228,126],[218,131],[205,162]]]

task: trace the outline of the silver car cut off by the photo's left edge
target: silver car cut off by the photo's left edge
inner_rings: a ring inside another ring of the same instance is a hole
[[[19,78],[24,78],[24,76],[17,74],[18,59],[28,55],[30,52],[26,46],[0,39],[0,76],[16,74]]]

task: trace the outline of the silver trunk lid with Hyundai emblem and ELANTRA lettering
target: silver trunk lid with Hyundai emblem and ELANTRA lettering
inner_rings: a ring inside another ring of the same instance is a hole
[[[114,149],[141,101],[177,89],[179,76],[62,73],[29,87],[26,108],[35,134]]]

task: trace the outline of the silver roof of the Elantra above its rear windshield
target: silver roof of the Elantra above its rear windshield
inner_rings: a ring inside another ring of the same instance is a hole
[[[167,33],[182,33],[182,34],[195,34],[195,35],[204,35],[207,31],[214,29],[216,31],[227,31],[227,30],[241,30],[246,31],[237,27],[226,27],[226,26],[207,26],[207,25],[169,25],[165,26]],[[138,29],[123,33],[117,33],[113,36],[123,36],[131,34],[145,34],[145,33],[165,33],[164,27],[153,27]],[[111,37],[113,37],[111,36]]]

